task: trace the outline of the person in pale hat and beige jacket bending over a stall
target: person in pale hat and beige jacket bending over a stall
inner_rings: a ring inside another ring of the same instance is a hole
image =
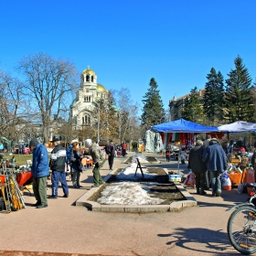
[[[91,187],[100,187],[104,181],[102,180],[101,174],[100,174],[100,169],[101,166],[104,164],[104,160],[100,165],[100,160],[102,159],[102,152],[101,152],[101,148],[99,147],[98,144],[92,144],[91,139],[87,139],[84,141],[85,146],[89,148],[90,150],[90,155],[91,158],[93,160],[93,170],[92,170],[92,174],[93,174],[93,185]]]

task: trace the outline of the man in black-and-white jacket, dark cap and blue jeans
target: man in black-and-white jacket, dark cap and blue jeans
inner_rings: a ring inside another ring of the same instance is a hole
[[[49,166],[51,174],[51,196],[48,198],[58,198],[59,181],[64,193],[63,197],[69,197],[69,187],[66,180],[65,165],[66,165],[66,149],[60,144],[58,138],[52,141],[54,149],[50,155]]]

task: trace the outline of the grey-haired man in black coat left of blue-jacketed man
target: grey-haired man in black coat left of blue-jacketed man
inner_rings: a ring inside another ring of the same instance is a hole
[[[190,150],[188,158],[188,168],[191,169],[196,176],[197,195],[206,194],[204,187],[206,183],[207,165],[202,160],[204,149],[203,142],[197,140],[197,144]]]

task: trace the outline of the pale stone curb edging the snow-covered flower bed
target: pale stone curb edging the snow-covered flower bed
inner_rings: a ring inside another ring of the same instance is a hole
[[[113,169],[111,173],[103,178],[104,182],[108,181],[111,176],[116,172],[117,169]],[[166,175],[168,175],[168,171],[164,168]],[[76,206],[78,207],[86,207],[91,209],[92,211],[102,211],[102,212],[129,212],[129,213],[138,213],[138,212],[177,212],[182,210],[182,208],[187,207],[197,207],[197,200],[195,197],[192,197],[183,187],[182,184],[175,182],[177,189],[183,194],[187,200],[176,201],[171,203],[170,205],[101,205],[97,202],[90,201],[90,198],[98,189],[101,187],[92,187],[88,192],[83,194],[77,201]]]

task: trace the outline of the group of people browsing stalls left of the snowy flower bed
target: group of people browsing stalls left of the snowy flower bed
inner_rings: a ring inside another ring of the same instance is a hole
[[[103,153],[98,144],[92,143],[91,139],[85,140],[88,151],[80,154],[80,144],[78,141],[72,141],[68,148],[60,144],[58,138],[52,142],[53,150],[48,159],[48,144],[40,144],[37,138],[31,139],[29,147],[33,150],[31,173],[33,176],[33,191],[36,197],[36,208],[47,208],[48,199],[58,199],[59,182],[63,190],[63,197],[69,197],[69,187],[66,179],[66,170],[69,166],[73,188],[80,188],[80,173],[83,170],[81,160],[84,155],[91,155],[93,161],[93,185],[91,187],[100,187],[102,180],[100,169],[104,164]],[[112,143],[111,143],[112,144]],[[112,155],[112,152],[108,152]],[[112,157],[110,159],[110,168],[112,169]],[[51,171],[51,172],[50,172]],[[51,195],[47,196],[47,180],[51,176]]]

